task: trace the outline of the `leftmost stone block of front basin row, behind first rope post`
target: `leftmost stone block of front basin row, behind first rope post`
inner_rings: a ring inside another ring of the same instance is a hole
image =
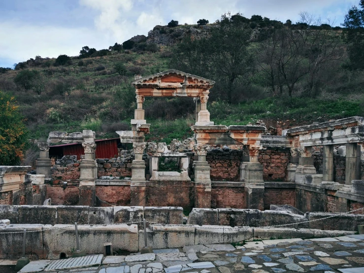
[[[43,225],[18,225],[11,224],[0,226],[0,234],[7,232],[19,232],[12,234],[0,235],[0,258],[2,259],[19,259],[23,256],[23,232],[38,230],[39,232],[27,233],[25,256],[30,259],[43,259]]]

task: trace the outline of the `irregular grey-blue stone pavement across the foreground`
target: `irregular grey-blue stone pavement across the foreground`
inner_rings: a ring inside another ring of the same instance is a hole
[[[243,245],[205,244],[183,249],[127,256],[90,255],[80,263],[67,260],[33,261],[21,273],[364,273],[364,235],[321,239],[249,241]],[[78,258],[77,258],[78,259]],[[62,261],[62,263],[60,262]],[[96,261],[96,263],[95,263]],[[1,261],[0,261],[1,263]],[[72,265],[67,267],[66,265]],[[58,267],[56,266],[58,265]],[[64,267],[62,267],[64,265]],[[56,269],[61,266],[62,269]],[[82,265],[81,265],[82,266]],[[48,271],[47,271],[48,270]]]

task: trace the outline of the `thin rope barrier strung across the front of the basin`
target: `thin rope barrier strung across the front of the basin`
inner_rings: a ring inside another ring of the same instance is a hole
[[[350,214],[352,212],[358,211],[364,209],[364,207],[349,211],[349,212],[344,212],[344,213],[338,213],[335,215],[331,215],[325,218],[321,218],[321,219],[315,219],[315,220],[308,220],[308,221],[303,221],[303,222],[298,222],[298,223],[292,223],[292,224],[282,224],[282,225],[274,225],[274,226],[261,226],[261,227],[241,227],[241,229],[249,229],[249,228],[276,228],[276,227],[283,227],[283,226],[293,226],[293,225],[299,225],[299,224],[303,224],[303,223],[310,223],[310,222],[315,222],[315,221],[322,221],[322,220],[326,220],[329,218],[333,218],[333,217],[337,217],[340,215],[346,215],[346,214]],[[152,222],[152,221],[146,221],[150,224],[157,224],[157,225],[169,225],[169,224],[163,224],[163,223],[158,223],[158,222]],[[137,221],[137,222],[127,222],[127,223],[114,223],[114,224],[93,224],[93,225],[89,225],[89,226],[106,226],[106,225],[125,225],[125,224],[139,224],[139,223],[143,223],[143,221]],[[41,229],[41,230],[33,230],[33,231],[27,231],[27,233],[31,233],[31,232],[44,232],[44,231],[49,231],[49,230],[58,230],[58,229],[66,229],[66,228],[70,228],[70,227],[74,227],[75,225],[67,225],[66,227],[58,227],[58,228],[52,228],[52,229]],[[180,226],[180,227],[188,227],[188,225],[180,225],[180,224],[176,224],[173,226]],[[222,226],[219,227],[203,227],[204,229],[221,229]],[[15,234],[15,233],[24,233],[24,231],[15,231],[15,232],[0,232],[0,234]]]

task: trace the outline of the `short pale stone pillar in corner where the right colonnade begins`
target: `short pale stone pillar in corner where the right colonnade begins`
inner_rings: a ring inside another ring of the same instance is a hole
[[[296,169],[296,183],[305,184],[306,174],[316,174],[316,168],[313,166],[312,147],[298,147],[300,158]]]

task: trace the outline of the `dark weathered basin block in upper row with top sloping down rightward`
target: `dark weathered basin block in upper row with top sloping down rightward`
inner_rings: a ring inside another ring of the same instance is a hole
[[[293,224],[306,222],[307,218],[303,215],[294,214],[291,211],[280,210],[264,210],[262,211],[263,219],[262,226],[276,226],[282,224]],[[308,223],[302,223],[297,225],[283,226],[283,228],[308,228]]]

